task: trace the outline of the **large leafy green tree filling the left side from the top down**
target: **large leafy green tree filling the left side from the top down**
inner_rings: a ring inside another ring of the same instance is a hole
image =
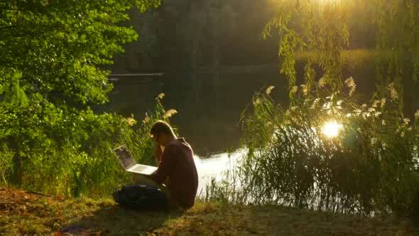
[[[121,117],[94,114],[89,105],[107,102],[112,85],[107,81],[109,71],[102,68],[112,63],[115,53],[123,52],[122,44],[138,38],[133,28],[122,26],[129,19],[126,11],[136,6],[145,12],[159,4],[159,0],[1,1],[0,140],[6,144],[4,150],[13,153],[14,184],[31,181],[23,179],[22,171],[37,170],[26,169],[26,164],[40,162],[46,168],[49,163],[51,171],[55,168],[53,175],[65,171],[65,163],[98,161],[89,159],[92,148],[109,145],[127,130]],[[78,181],[85,177],[76,168],[72,174]],[[73,183],[69,185],[72,188]]]

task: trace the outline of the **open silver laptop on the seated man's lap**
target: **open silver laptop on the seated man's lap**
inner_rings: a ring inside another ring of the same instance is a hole
[[[149,176],[157,170],[156,166],[137,164],[125,145],[119,146],[112,151],[114,151],[116,158],[119,160],[122,167],[124,167],[125,171]]]

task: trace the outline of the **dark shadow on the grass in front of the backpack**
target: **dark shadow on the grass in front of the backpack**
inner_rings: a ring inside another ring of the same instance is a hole
[[[119,205],[100,205],[89,215],[66,225],[55,235],[142,235],[179,218],[181,211],[127,210]]]

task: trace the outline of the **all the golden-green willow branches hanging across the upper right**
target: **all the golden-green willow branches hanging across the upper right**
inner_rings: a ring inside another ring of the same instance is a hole
[[[352,34],[359,31],[355,21],[368,25],[369,33],[376,33],[377,97],[388,96],[390,85],[403,97],[402,76],[417,80],[419,60],[413,55],[419,53],[419,6],[415,1],[295,0],[278,1],[276,5],[277,14],[266,25],[263,36],[278,31],[281,73],[288,77],[290,90],[296,81],[295,53],[300,52],[310,52],[304,73],[308,92],[317,96],[312,91],[316,78],[331,91],[341,90],[342,51],[349,47],[349,30]],[[403,102],[399,106],[401,112]]]

